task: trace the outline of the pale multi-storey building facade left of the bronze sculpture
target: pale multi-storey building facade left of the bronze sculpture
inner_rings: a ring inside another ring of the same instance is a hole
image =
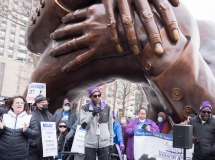
[[[38,1],[0,0],[0,100],[23,94],[33,71],[24,37],[27,21]]]

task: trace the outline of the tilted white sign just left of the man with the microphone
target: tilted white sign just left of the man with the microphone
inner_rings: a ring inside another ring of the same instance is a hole
[[[84,154],[85,130],[78,125],[76,128],[75,138],[72,144],[71,152]]]

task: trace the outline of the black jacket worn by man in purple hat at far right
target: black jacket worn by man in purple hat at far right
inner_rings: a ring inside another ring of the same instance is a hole
[[[194,144],[193,156],[202,160],[215,160],[215,118],[202,124],[199,116],[188,123],[193,126],[193,137],[198,139]]]

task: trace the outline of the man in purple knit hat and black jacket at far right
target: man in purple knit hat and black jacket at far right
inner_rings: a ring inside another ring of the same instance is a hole
[[[215,160],[215,119],[210,102],[202,102],[199,115],[188,124],[193,126],[193,160]]]

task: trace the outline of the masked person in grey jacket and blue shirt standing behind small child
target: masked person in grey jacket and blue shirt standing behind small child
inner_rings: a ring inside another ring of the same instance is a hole
[[[67,98],[63,101],[63,107],[54,114],[54,121],[58,127],[60,121],[66,121],[67,127],[70,129],[66,135],[67,139],[70,139],[71,143],[75,135],[77,125],[80,124],[79,114],[71,110],[70,102]]]

